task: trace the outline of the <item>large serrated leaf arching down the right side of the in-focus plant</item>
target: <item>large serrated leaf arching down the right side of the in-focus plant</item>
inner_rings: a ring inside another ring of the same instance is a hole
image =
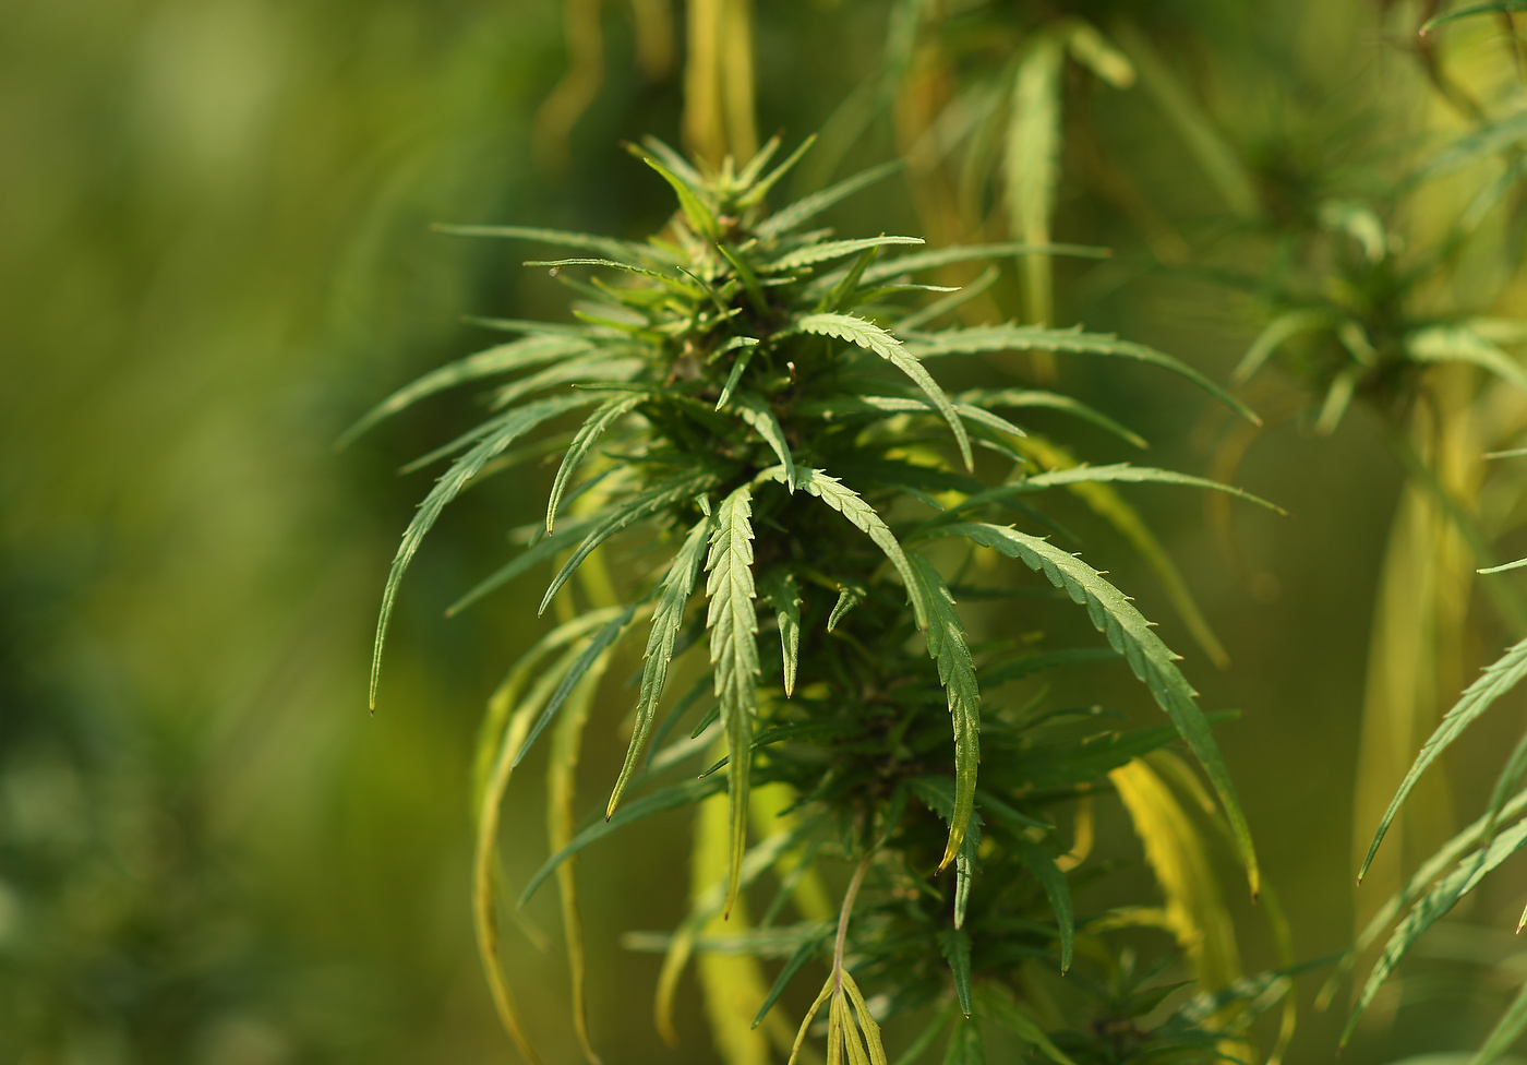
[[[1031,570],[1043,571],[1051,584],[1064,588],[1072,602],[1087,607],[1087,616],[1099,633],[1109,637],[1115,651],[1122,654],[1135,675],[1150,689],[1156,704],[1167,712],[1177,733],[1186,740],[1194,756],[1209,775],[1209,782],[1220,796],[1225,816],[1229,819],[1235,848],[1246,866],[1252,897],[1257,895],[1261,876],[1257,866],[1257,851],[1251,842],[1251,828],[1241,811],[1235,787],[1231,784],[1219,744],[1209,732],[1203,711],[1196,701],[1197,692],[1176,666],[1171,648],[1150,630],[1150,622],[1135,608],[1122,591],[1109,584],[1101,573],[1069,555],[1049,541],[1029,536],[1015,529],[988,524],[954,524],[931,530],[938,536],[964,536],[982,547],[1020,559]]]

